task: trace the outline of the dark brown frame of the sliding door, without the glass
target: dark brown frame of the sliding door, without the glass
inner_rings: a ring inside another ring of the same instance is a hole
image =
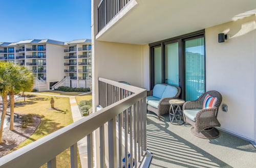
[[[204,88],[206,91],[206,46],[205,30],[191,32],[181,36],[168,38],[148,44],[150,46],[150,89],[154,88],[154,48],[161,46],[162,49],[162,83],[165,83],[165,45],[178,42],[179,45],[179,87],[181,88],[180,98],[185,99],[185,41],[204,37]]]

